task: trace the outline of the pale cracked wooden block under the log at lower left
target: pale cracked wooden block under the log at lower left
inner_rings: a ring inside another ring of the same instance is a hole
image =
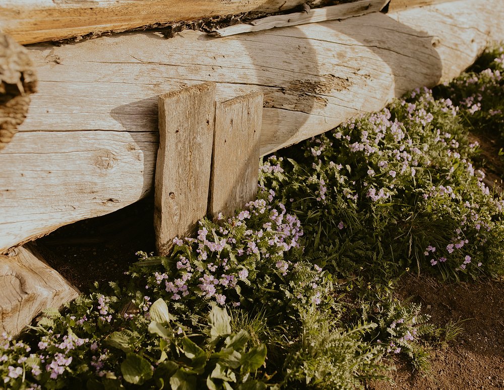
[[[33,247],[0,256],[0,332],[19,333],[43,309],[59,308],[79,296]]]

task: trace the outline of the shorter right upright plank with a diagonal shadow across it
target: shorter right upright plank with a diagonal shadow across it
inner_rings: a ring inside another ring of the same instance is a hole
[[[259,175],[263,94],[217,104],[209,214],[233,215],[254,200]]]

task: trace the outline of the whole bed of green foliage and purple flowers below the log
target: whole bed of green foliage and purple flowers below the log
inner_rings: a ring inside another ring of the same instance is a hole
[[[496,58],[478,93],[501,93]],[[244,210],[201,220],[170,256],[139,252],[129,283],[2,335],[4,388],[362,388],[395,356],[426,369],[425,344],[454,324],[430,326],[396,278],[504,267],[504,202],[468,137],[500,117],[481,114],[497,109],[484,97],[454,104],[475,92],[450,100],[467,77],[268,157]]]

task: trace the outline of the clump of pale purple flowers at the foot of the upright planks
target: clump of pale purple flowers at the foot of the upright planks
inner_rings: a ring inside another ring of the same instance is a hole
[[[282,171],[271,168],[276,164],[267,166],[267,172]],[[292,264],[284,253],[299,246],[303,232],[299,219],[282,203],[273,207],[274,197],[273,190],[263,191],[236,216],[219,215],[217,223],[200,221],[196,239],[176,237],[175,267],[155,272],[149,284],[177,302],[196,294],[219,305],[239,306],[237,285],[250,285],[250,272],[254,270],[254,277],[257,273],[258,267],[249,264],[260,260],[286,275]]]

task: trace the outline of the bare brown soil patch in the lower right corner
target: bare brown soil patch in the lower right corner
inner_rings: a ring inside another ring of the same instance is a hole
[[[415,372],[394,362],[395,383],[372,382],[369,390],[504,388],[504,282],[438,284],[426,277],[401,282],[402,298],[421,303],[436,326],[466,320],[464,330],[448,345],[430,348],[430,371]]]

